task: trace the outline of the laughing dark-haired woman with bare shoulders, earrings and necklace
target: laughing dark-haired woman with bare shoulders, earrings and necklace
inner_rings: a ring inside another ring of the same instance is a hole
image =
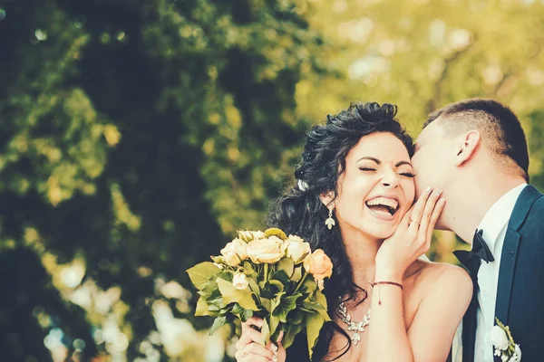
[[[324,291],[333,320],[316,361],[445,361],[471,300],[464,270],[420,259],[445,200],[429,186],[413,203],[413,141],[395,115],[390,104],[356,104],[311,129],[296,186],[269,215],[334,264]],[[242,324],[237,361],[309,361],[305,336],[262,347],[254,326]]]

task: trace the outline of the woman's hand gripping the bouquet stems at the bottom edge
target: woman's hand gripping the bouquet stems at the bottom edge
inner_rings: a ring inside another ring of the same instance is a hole
[[[285,362],[286,349],[281,345],[283,332],[277,340],[277,346],[273,343],[263,347],[260,345],[261,333],[252,326],[262,327],[263,319],[252,317],[242,323],[242,335],[236,343],[234,357],[238,362]]]

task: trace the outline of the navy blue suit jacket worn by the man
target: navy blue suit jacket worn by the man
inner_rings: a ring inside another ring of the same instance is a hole
[[[510,327],[523,362],[544,361],[544,195],[534,186],[523,189],[510,216],[495,317]],[[463,348],[462,361],[474,361],[474,351]]]

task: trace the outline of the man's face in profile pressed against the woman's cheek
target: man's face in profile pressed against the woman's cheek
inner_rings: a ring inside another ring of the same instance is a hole
[[[415,171],[415,193],[419,197],[427,186],[445,189],[454,167],[453,139],[444,137],[439,119],[425,127],[415,141],[412,165]]]

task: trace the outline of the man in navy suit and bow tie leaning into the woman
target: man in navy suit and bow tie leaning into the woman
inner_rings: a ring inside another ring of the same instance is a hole
[[[412,162],[418,195],[443,190],[437,229],[471,244],[456,252],[474,282],[462,361],[500,362],[488,340],[495,318],[510,326],[523,362],[544,361],[544,196],[528,185],[520,121],[494,100],[451,104],[427,119]]]

